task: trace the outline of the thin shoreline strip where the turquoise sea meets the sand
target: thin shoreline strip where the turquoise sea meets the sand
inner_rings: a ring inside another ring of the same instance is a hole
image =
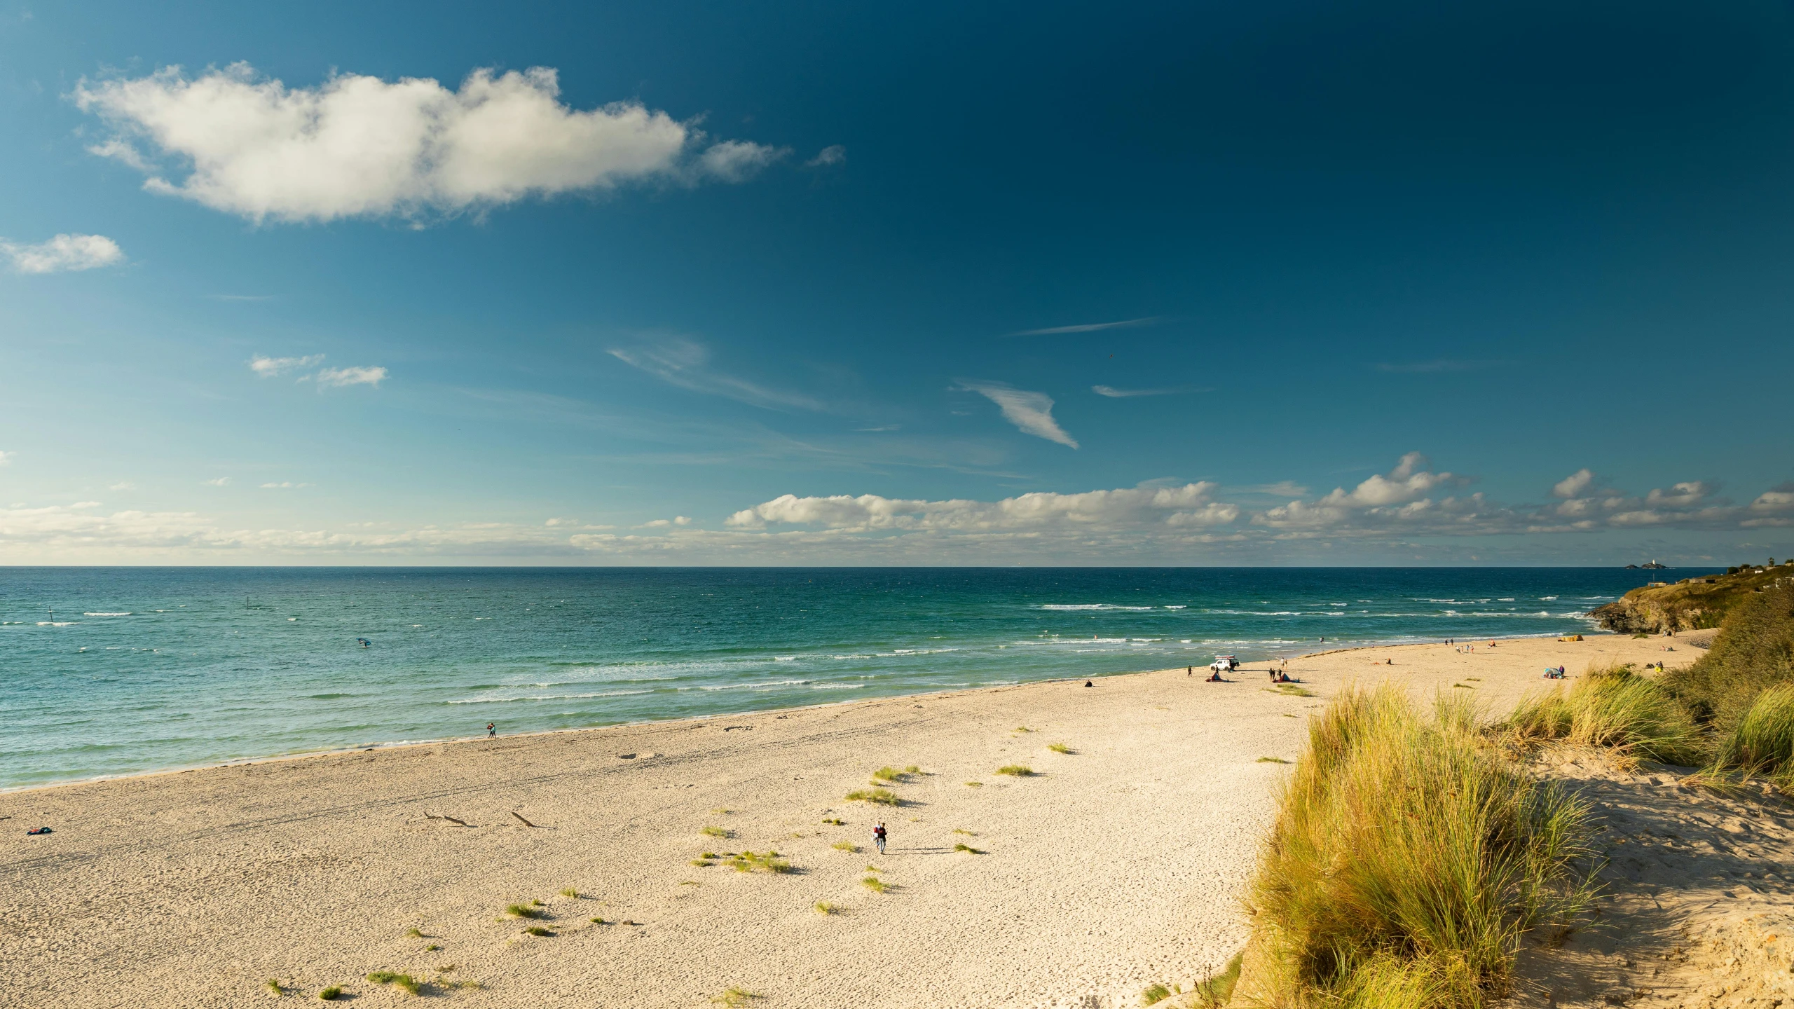
[[[1577,634],[1584,634],[1584,636],[1607,636],[1611,632],[1606,632],[1606,630],[1595,630],[1595,632],[1582,630],[1582,632],[1577,632]],[[1478,637],[1475,641],[1543,641],[1543,639],[1550,639],[1550,637],[1561,637],[1561,634],[1520,634],[1520,636],[1511,636],[1511,637]],[[1372,643],[1372,645],[1353,645],[1353,646],[1347,646],[1347,648],[1328,648],[1328,650],[1322,650],[1322,652],[1301,652],[1301,654],[1290,654],[1290,655],[1272,654],[1267,659],[1250,659],[1250,661],[1272,661],[1272,659],[1283,659],[1283,657],[1286,657],[1290,661],[1297,661],[1297,659],[1310,659],[1310,657],[1320,657],[1320,655],[1338,655],[1338,654],[1347,654],[1347,652],[1363,652],[1363,650],[1374,650],[1374,648],[1412,648],[1412,646],[1426,646],[1426,645],[1437,645],[1437,643],[1439,641],[1403,641],[1403,639],[1390,639],[1390,641],[1380,641],[1380,643]],[[1202,666],[1202,668],[1206,668],[1206,666]],[[501,738],[501,740],[520,740],[520,738],[533,738],[533,736],[558,736],[558,734],[567,734],[567,733],[597,733],[597,731],[605,731],[605,729],[626,729],[626,727],[640,727],[640,725],[676,725],[676,724],[685,724],[685,722],[703,722],[703,720],[709,720],[709,718],[745,718],[745,716],[753,716],[753,715],[779,715],[779,713],[786,713],[786,711],[809,711],[809,709],[816,709],[816,707],[840,707],[840,706],[852,706],[852,704],[870,704],[870,702],[877,702],[877,700],[902,700],[902,698],[908,698],[908,697],[942,697],[942,695],[956,695],[956,693],[969,693],[969,691],[1006,689],[1006,688],[1026,686],[1026,684],[1069,682],[1069,680],[1075,680],[1075,679],[1102,679],[1102,680],[1107,680],[1107,679],[1116,679],[1116,677],[1139,677],[1139,675],[1150,675],[1150,673],[1164,673],[1164,671],[1170,671],[1170,670],[1175,670],[1175,666],[1166,668],[1166,670],[1127,670],[1127,671],[1118,671],[1118,673],[1094,673],[1094,675],[1087,675],[1087,677],[1051,677],[1051,679],[1041,679],[1041,680],[1012,680],[1012,682],[1005,682],[1005,684],[962,686],[962,688],[947,688],[947,689],[935,689],[935,691],[922,691],[922,693],[886,693],[886,695],[875,695],[875,697],[858,697],[858,698],[849,698],[849,700],[825,700],[825,702],[818,702],[818,704],[800,704],[800,706],[786,706],[786,707],[746,707],[746,709],[737,709],[737,711],[718,711],[718,713],[712,713],[712,715],[689,715],[689,716],[684,716],[684,718],[644,718],[644,720],[639,720],[639,722],[610,722],[610,724],[605,724],[605,725],[574,725],[574,727],[567,727],[567,729],[536,729],[536,731],[527,731],[527,733],[515,733],[515,734],[509,734],[509,736],[501,734],[497,738]],[[432,740],[393,740],[393,741],[379,741],[379,743],[353,745],[353,747],[332,747],[332,749],[321,749],[321,750],[300,750],[300,752],[285,752],[285,754],[264,754],[264,756],[224,759],[224,761],[208,761],[208,763],[161,767],[161,768],[149,768],[149,770],[133,770],[133,772],[126,772],[126,774],[99,774],[99,776],[93,776],[93,777],[66,777],[66,779],[59,779],[59,781],[43,781],[43,783],[38,783],[38,785],[7,785],[7,786],[0,786],[0,795],[13,795],[13,794],[22,794],[22,792],[39,792],[39,790],[45,790],[45,788],[68,788],[68,786],[77,786],[77,785],[93,785],[93,783],[100,783],[100,781],[133,781],[133,779],[142,779],[142,777],[160,777],[160,776],[170,776],[170,774],[190,774],[190,772],[197,772],[197,770],[212,770],[212,768],[221,768],[221,767],[251,767],[251,765],[273,763],[273,761],[296,761],[296,759],[330,758],[330,756],[344,756],[344,754],[359,754],[359,752],[404,750],[407,747],[438,747],[438,745],[468,743],[468,741],[479,741],[479,740],[486,740],[486,736],[477,736],[475,734],[475,736],[441,736],[441,738],[432,738]]]

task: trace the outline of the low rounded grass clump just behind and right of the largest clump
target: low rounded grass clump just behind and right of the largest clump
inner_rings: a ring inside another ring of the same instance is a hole
[[[1521,740],[1563,740],[1624,756],[1697,765],[1701,729],[1658,680],[1631,666],[1591,666],[1570,689],[1552,688],[1520,702],[1509,727]]]

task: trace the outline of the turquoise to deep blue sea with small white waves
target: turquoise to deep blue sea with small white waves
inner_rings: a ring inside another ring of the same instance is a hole
[[[1206,664],[1218,652],[1563,634],[1652,578],[1663,575],[0,567],[0,788],[472,736],[486,722],[527,733]]]

